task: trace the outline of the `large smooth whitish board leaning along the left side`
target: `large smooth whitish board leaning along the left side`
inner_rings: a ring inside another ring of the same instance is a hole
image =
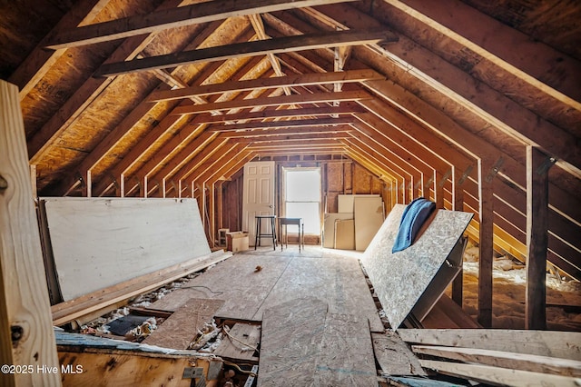
[[[211,253],[195,199],[42,201],[64,301]]]

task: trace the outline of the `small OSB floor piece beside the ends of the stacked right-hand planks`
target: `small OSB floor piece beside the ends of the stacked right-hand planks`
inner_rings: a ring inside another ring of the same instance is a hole
[[[395,332],[371,333],[375,359],[387,375],[426,376],[418,358]]]

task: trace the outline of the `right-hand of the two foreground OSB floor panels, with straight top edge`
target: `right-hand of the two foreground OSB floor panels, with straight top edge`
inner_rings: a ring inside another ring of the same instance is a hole
[[[378,385],[366,318],[328,313],[315,370],[316,386]]]

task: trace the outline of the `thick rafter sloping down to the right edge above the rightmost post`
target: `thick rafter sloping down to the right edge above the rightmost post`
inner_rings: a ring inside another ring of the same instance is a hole
[[[342,20],[351,28],[382,25],[377,19],[349,5],[335,7],[322,5],[319,9],[336,20]],[[353,17],[354,14],[360,17]],[[568,146],[575,141],[572,134],[533,114],[479,80],[475,74],[464,72],[439,55],[433,55],[433,59],[428,63],[425,59],[431,56],[428,55],[428,49],[406,36],[400,36],[399,42],[390,45],[389,50],[378,45],[375,47],[378,48],[379,55],[389,59],[389,64],[405,70],[406,74],[415,77],[421,84],[429,86],[438,94],[444,95],[449,102],[458,104],[470,112],[472,120],[478,117],[484,123],[493,124],[500,132],[508,134],[523,145],[545,144],[548,147],[547,152],[555,154],[557,158],[566,162],[564,164],[569,164],[570,167],[563,165],[567,171],[581,176],[581,154],[572,154],[572,149]],[[407,59],[404,61],[402,58]],[[413,60],[414,65],[409,63],[410,60]],[[437,61],[438,65],[435,65],[434,61]],[[434,68],[438,68],[438,76],[435,75]],[[542,136],[551,138],[541,138]]]

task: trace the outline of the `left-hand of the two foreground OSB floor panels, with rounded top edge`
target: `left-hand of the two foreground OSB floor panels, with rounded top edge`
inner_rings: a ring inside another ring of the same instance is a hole
[[[264,311],[258,387],[313,385],[327,309],[309,297]]]

